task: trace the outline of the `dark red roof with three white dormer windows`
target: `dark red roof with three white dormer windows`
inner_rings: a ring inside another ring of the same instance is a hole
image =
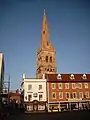
[[[48,82],[90,82],[90,74],[46,74]]]

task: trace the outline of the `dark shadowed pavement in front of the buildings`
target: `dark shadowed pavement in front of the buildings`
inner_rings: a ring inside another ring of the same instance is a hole
[[[90,120],[90,111],[18,113],[10,115],[6,120]]]

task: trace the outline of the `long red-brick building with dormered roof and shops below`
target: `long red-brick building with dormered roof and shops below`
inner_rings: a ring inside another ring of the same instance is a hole
[[[47,74],[48,111],[87,109],[90,74]]]

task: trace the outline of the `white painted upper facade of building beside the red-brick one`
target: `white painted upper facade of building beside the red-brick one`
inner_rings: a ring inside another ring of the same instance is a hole
[[[24,102],[46,101],[46,79],[23,78],[21,91],[24,91]]]

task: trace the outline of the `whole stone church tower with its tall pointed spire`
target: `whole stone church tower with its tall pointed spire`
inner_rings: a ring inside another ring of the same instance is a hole
[[[49,27],[44,10],[41,30],[40,47],[37,50],[36,78],[41,78],[43,74],[56,73],[56,49],[52,45],[49,36]]]

